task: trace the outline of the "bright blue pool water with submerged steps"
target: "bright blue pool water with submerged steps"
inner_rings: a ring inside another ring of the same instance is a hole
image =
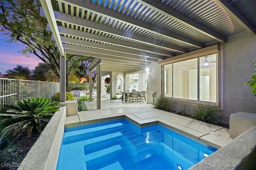
[[[57,170],[186,170],[217,149],[126,119],[67,128]]]

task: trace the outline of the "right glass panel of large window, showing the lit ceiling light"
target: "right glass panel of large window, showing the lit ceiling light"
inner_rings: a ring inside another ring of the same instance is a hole
[[[200,57],[200,101],[216,102],[216,65],[216,54]]]

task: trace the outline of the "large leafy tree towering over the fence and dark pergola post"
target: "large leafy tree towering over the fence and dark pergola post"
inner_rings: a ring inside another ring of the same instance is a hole
[[[52,3],[56,10],[58,5],[54,1]],[[50,69],[60,77],[60,57],[54,41],[51,40],[51,33],[46,29],[47,20],[40,16],[40,6],[39,0],[0,0],[0,24],[3,26],[1,31],[8,35],[5,41],[20,41],[27,45],[26,49],[22,50],[24,55],[33,53],[44,63],[49,63]],[[78,55],[66,56],[71,69],[80,63],[74,61],[77,57],[82,58]],[[69,71],[70,69],[66,72],[67,91],[70,91]]]

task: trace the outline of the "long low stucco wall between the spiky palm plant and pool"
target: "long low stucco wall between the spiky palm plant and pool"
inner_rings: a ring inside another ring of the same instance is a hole
[[[66,106],[54,113],[18,170],[55,170],[64,132]]]

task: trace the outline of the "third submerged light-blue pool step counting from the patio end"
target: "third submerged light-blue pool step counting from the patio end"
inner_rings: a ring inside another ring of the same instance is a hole
[[[122,147],[120,145],[114,145],[112,147],[99,150],[85,155],[87,169],[94,168],[94,165],[98,165],[100,162],[108,162],[118,156]]]

